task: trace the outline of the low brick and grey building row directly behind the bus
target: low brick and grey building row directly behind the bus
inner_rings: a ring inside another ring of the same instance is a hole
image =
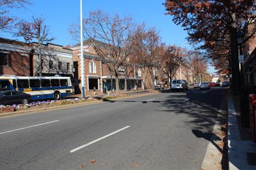
[[[39,56],[37,43],[0,38],[1,76],[38,76]],[[43,44],[42,75],[73,77],[73,52],[57,44]]]

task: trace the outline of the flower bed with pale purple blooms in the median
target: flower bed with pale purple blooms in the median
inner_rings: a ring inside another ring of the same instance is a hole
[[[86,99],[81,99],[76,97],[73,99],[64,99],[64,100],[37,101],[37,102],[28,103],[27,105],[0,105],[0,113],[39,109],[39,108],[45,108],[45,107],[51,107],[51,106],[72,105],[75,103],[93,102],[98,100],[108,101],[110,99],[114,99],[117,97],[125,97],[125,96],[129,96],[129,95],[110,94],[110,96],[90,96],[90,97],[86,97]]]

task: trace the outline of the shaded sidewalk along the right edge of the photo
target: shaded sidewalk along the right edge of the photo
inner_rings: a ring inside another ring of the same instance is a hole
[[[240,107],[236,97],[228,94],[228,156],[229,169],[256,169],[256,143],[249,138],[248,129],[243,128],[237,117]],[[234,106],[235,104],[235,106]]]

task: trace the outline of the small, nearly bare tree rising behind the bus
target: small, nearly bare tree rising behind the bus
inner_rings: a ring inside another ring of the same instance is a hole
[[[47,43],[49,41],[54,40],[55,38],[49,33],[48,26],[45,25],[45,20],[41,18],[34,18],[32,22],[28,22],[22,20],[19,23],[19,32],[16,33],[17,36],[23,37],[25,41],[37,41],[36,47],[34,49],[35,52],[38,50],[39,55],[39,68],[38,73],[39,76],[42,76],[42,45],[43,43]]]

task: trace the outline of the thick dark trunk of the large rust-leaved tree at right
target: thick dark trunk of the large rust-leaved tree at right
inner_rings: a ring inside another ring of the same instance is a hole
[[[231,23],[229,32],[231,39],[231,71],[232,71],[232,85],[235,94],[239,94],[240,91],[240,71],[238,61],[238,44],[237,44],[237,28],[236,28],[236,14],[232,15],[233,23]]]

